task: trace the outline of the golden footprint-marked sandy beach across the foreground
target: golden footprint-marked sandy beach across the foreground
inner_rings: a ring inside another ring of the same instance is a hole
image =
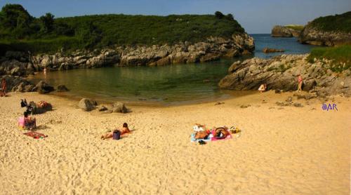
[[[350,97],[329,99],[338,111],[317,99],[275,104],[292,95],[101,114],[62,97],[10,93],[0,97],[0,194],[350,194]],[[35,116],[48,137],[22,135],[22,98],[53,104]],[[100,140],[124,122],[133,133]],[[194,123],[242,132],[199,145],[190,142]]]

